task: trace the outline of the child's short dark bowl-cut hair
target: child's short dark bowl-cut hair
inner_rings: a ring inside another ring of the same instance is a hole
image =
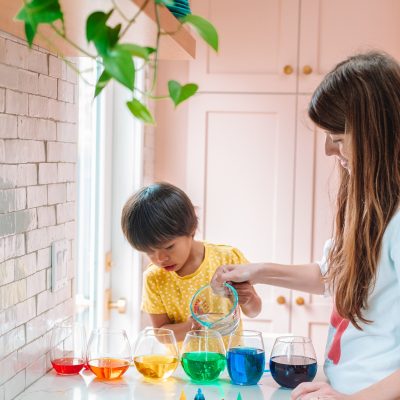
[[[191,236],[197,223],[186,193],[166,182],[153,183],[133,194],[121,215],[122,231],[139,251],[158,248],[178,236]]]

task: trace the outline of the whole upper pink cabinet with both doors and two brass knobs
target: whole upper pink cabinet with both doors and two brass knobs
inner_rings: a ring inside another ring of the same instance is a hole
[[[400,59],[397,0],[192,0],[220,35],[202,43],[190,79],[202,91],[312,93],[334,65],[380,49]]]

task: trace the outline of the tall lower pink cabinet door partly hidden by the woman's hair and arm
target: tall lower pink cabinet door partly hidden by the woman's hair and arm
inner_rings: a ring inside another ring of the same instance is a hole
[[[337,188],[335,160],[325,155],[325,133],[307,117],[309,96],[298,97],[293,262],[322,258],[324,243],[332,236]],[[330,297],[292,292],[291,331],[312,339],[321,363],[332,311]]]

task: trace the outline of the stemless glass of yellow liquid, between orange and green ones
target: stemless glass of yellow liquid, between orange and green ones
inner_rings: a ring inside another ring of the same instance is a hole
[[[144,329],[136,341],[133,361],[138,372],[147,380],[169,378],[179,364],[174,332],[164,328]]]

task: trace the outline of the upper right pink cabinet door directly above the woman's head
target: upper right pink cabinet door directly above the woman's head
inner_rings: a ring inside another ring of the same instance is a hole
[[[400,60],[398,0],[302,0],[299,91],[311,93],[338,62],[380,49]],[[309,66],[312,69],[303,69]]]

